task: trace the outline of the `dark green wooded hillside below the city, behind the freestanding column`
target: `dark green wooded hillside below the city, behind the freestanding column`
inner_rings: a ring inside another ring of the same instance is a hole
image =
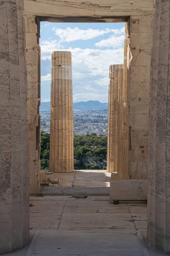
[[[41,169],[49,169],[50,134],[41,132]],[[106,169],[107,136],[74,135],[74,169]]]

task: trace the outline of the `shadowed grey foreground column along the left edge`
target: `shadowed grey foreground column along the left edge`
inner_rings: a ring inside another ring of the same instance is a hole
[[[23,0],[0,1],[0,254],[29,239]]]

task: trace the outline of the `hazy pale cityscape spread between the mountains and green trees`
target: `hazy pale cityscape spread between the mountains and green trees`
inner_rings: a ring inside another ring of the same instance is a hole
[[[50,110],[41,110],[41,131],[50,133]],[[108,110],[73,110],[74,135],[107,135]]]

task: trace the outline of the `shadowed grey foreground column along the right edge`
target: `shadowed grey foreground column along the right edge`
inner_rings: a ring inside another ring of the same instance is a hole
[[[149,243],[170,253],[170,0],[156,0],[151,57],[148,226]]]

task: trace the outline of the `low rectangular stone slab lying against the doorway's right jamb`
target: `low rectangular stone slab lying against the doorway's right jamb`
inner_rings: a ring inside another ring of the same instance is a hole
[[[147,200],[147,180],[111,180],[111,200]]]

